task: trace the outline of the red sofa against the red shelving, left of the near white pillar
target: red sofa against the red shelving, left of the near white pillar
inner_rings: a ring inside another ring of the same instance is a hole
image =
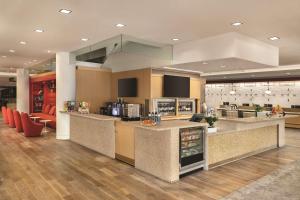
[[[41,113],[31,113],[34,117],[40,117],[40,120],[48,119],[51,120],[47,123],[50,128],[56,129],[56,106],[43,105]]]

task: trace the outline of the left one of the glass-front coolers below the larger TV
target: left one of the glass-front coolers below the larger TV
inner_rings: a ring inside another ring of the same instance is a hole
[[[161,114],[161,116],[176,115],[176,100],[175,99],[153,99],[152,111]]]

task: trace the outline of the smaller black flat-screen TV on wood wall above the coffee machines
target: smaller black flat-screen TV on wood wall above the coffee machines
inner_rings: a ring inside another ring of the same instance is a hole
[[[118,80],[118,97],[136,97],[137,79],[125,78]]]

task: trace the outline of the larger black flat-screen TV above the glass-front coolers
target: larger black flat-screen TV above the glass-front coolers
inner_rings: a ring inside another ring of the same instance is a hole
[[[164,97],[190,97],[190,77],[164,75]]]

